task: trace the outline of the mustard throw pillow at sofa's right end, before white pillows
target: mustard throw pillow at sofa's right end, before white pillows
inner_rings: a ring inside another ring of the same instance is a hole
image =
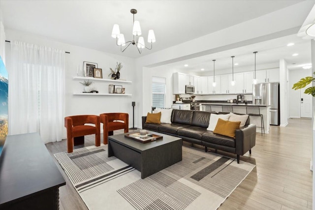
[[[221,134],[235,139],[235,130],[240,127],[240,121],[227,121],[219,118],[217,126],[213,133]]]

